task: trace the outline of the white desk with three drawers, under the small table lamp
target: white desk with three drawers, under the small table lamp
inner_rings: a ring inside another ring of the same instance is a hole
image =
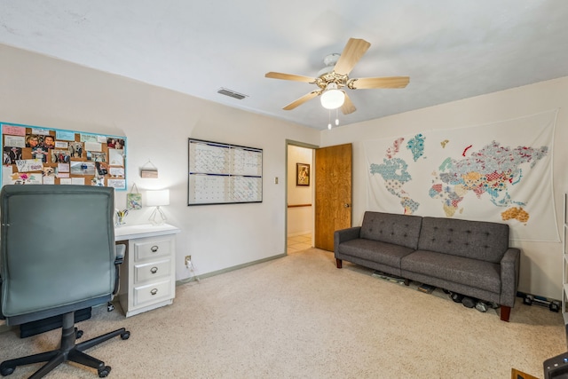
[[[118,298],[126,317],[172,304],[176,296],[176,233],[172,225],[123,225],[114,241],[126,245]]]

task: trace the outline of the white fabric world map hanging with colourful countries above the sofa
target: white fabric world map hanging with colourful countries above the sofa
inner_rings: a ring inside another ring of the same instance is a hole
[[[367,208],[507,223],[512,239],[560,241],[555,123],[556,110],[367,141]]]

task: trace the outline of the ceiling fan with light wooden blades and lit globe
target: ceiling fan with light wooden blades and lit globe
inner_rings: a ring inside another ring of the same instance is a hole
[[[324,59],[326,67],[319,71],[318,77],[312,78],[304,75],[292,75],[269,72],[264,77],[272,79],[292,80],[316,84],[319,89],[305,94],[300,99],[296,99],[283,107],[291,110],[301,106],[308,100],[321,96],[321,105],[327,109],[341,107],[343,114],[351,114],[356,108],[343,90],[344,87],[350,90],[362,90],[373,88],[404,88],[410,81],[408,76],[389,76],[389,77],[366,77],[351,79],[349,73],[355,67],[359,59],[367,52],[371,43],[363,39],[350,38],[341,54],[329,54]]]

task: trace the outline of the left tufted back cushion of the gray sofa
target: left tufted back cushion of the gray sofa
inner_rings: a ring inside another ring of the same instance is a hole
[[[367,211],[360,237],[416,249],[421,225],[422,217]]]

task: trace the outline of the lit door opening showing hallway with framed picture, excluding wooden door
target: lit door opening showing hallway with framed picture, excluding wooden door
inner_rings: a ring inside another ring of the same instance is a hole
[[[288,142],[287,254],[313,247],[315,147]]]

